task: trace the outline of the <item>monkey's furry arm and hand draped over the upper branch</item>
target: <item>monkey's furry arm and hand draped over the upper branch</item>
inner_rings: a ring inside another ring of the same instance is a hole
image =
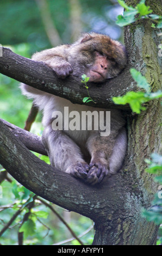
[[[69,47],[69,45],[61,45],[42,52],[36,52],[33,54],[32,59],[37,62],[45,62],[58,77],[65,78],[73,72],[70,63],[67,62],[67,49]]]

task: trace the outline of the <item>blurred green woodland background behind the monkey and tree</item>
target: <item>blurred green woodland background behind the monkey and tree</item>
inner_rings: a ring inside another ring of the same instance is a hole
[[[123,41],[122,29],[115,24],[117,15],[122,12],[123,9],[116,0],[1,0],[0,44],[11,48],[21,56],[30,58],[35,51],[58,44],[70,44],[82,32],[95,31]],[[19,83],[0,74],[0,117],[23,128],[31,106],[32,101],[21,95]],[[41,135],[41,114],[36,118],[31,131]],[[48,162],[45,157],[43,160]],[[12,183],[3,181],[1,184],[3,198],[0,199],[0,207],[16,203],[18,200],[13,193],[15,184],[20,190],[21,185],[16,181]],[[24,240],[25,245],[51,245],[72,236],[49,209],[42,205],[37,207],[49,212],[49,215],[43,220],[45,225],[36,221],[35,233]],[[54,208],[77,235],[82,234],[92,225],[92,221],[88,218],[67,212],[58,206]],[[1,209],[0,230],[15,212],[12,207]],[[2,245],[17,245],[17,230],[22,218],[23,213],[0,237]],[[49,233],[46,226],[50,228]],[[93,237],[94,231],[91,229],[81,240],[85,245],[89,245]],[[65,244],[76,245],[78,242],[74,240]]]

